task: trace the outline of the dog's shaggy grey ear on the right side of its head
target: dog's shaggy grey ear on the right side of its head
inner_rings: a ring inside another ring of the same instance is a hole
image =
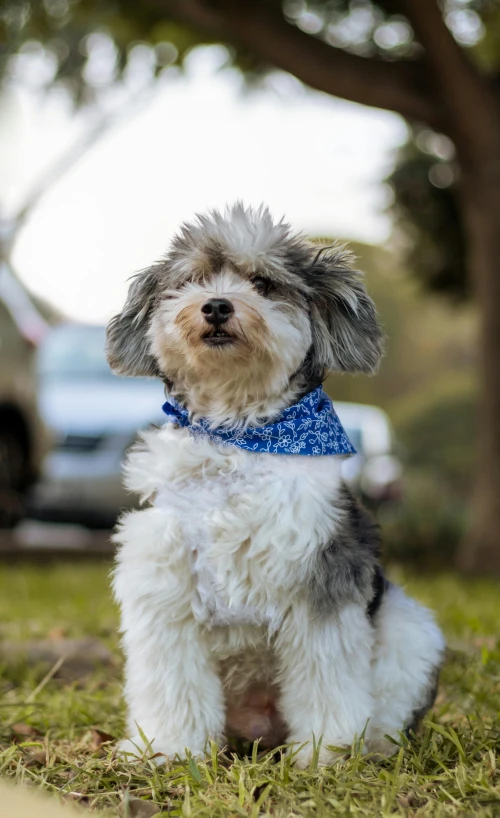
[[[372,373],[383,352],[384,336],[363,274],[350,266],[342,248],[323,248],[307,273],[313,294],[312,365],[317,371]]]

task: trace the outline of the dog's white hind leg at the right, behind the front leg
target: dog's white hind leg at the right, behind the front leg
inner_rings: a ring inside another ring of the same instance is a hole
[[[374,712],[366,743],[391,754],[404,730],[414,730],[432,707],[445,643],[432,613],[389,584],[375,614],[372,660]]]

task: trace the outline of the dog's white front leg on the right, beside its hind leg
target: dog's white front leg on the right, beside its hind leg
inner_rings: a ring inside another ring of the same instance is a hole
[[[290,610],[277,637],[281,712],[288,741],[305,744],[296,764],[337,756],[328,745],[350,747],[372,715],[370,662],[373,629],[361,605],[345,605],[316,618],[306,602]]]

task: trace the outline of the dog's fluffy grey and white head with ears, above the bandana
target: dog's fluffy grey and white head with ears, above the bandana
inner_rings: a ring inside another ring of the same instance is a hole
[[[371,372],[382,335],[348,262],[264,208],[200,216],[133,281],[108,327],[110,365],[183,382],[181,391],[186,381],[214,394],[244,386],[243,401],[277,397],[297,374],[316,385],[328,370]]]

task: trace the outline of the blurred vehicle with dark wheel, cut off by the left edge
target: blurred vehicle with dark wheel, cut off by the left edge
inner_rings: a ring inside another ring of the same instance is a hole
[[[0,527],[24,513],[47,438],[38,414],[34,349],[48,325],[27,292],[0,265]]]

